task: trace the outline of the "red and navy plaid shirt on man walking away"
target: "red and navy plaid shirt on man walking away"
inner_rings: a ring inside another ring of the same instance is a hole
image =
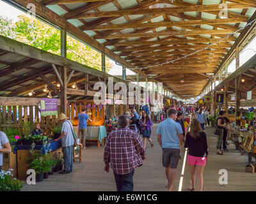
[[[110,162],[115,173],[124,175],[141,166],[139,154],[143,156],[145,149],[138,133],[129,128],[120,128],[109,134],[104,150],[104,162]]]

